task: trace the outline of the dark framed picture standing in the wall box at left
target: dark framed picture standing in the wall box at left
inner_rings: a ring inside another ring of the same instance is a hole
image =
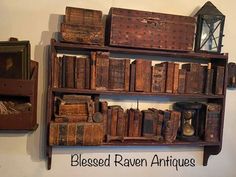
[[[29,79],[29,41],[0,42],[0,78]]]

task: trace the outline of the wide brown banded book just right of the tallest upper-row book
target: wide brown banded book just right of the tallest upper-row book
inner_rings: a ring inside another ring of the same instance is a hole
[[[128,91],[127,88],[129,88],[129,63],[129,59],[110,58],[109,89]]]

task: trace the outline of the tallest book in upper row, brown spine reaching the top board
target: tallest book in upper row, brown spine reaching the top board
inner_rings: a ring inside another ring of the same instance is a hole
[[[109,52],[97,52],[96,89],[107,90],[109,78]]]

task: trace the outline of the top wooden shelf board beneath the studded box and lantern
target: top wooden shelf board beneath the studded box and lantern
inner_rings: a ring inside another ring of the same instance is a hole
[[[178,58],[191,58],[191,59],[227,59],[227,54],[211,54],[211,53],[196,53],[196,52],[179,52],[179,51],[163,51],[163,50],[151,50],[151,49],[134,49],[124,47],[111,47],[111,46],[97,46],[97,45],[85,45],[75,43],[63,43],[54,42],[54,47],[57,52],[60,51],[109,51],[113,53],[123,54],[139,54],[139,55],[159,55],[163,57],[178,57]]]

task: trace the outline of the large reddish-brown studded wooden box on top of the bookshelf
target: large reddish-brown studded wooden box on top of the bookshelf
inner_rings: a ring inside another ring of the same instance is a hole
[[[111,46],[191,51],[195,18],[111,8],[106,42]]]

